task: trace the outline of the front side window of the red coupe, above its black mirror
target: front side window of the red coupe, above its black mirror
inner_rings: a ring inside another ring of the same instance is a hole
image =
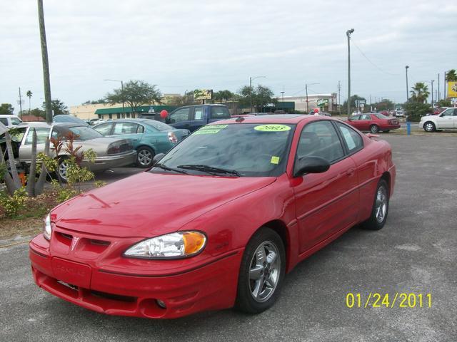
[[[309,156],[321,157],[328,162],[344,156],[343,146],[330,121],[309,123],[301,131],[296,159]]]

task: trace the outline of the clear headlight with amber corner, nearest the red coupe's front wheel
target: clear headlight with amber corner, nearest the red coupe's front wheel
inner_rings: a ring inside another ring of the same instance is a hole
[[[124,256],[144,259],[181,259],[199,254],[206,245],[201,232],[176,232],[134,244]]]

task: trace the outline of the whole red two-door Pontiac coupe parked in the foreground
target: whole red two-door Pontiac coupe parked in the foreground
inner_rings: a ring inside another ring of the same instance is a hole
[[[49,213],[30,243],[38,286],[113,315],[259,313],[299,261],[381,229],[396,176],[387,142],[314,115],[218,121],[155,162]]]

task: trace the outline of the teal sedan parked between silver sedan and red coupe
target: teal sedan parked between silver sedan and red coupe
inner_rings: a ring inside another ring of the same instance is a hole
[[[136,165],[144,168],[151,167],[154,155],[168,152],[190,134],[189,130],[151,119],[119,119],[93,128],[106,137],[132,140],[137,152]]]

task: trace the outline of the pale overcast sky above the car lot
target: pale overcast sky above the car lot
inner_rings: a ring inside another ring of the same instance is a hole
[[[44,0],[51,95],[66,105],[117,87],[105,78],[141,79],[162,93],[236,91],[253,81],[276,95],[338,91],[406,100],[410,86],[457,68],[456,1]],[[43,101],[35,0],[0,4],[0,103],[19,109],[18,88]],[[366,57],[364,57],[365,55]]]

